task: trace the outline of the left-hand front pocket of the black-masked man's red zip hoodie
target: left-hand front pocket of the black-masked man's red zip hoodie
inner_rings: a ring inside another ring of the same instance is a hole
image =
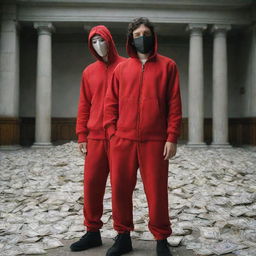
[[[117,128],[128,131],[136,128],[138,102],[135,98],[122,98],[119,101],[119,118]]]

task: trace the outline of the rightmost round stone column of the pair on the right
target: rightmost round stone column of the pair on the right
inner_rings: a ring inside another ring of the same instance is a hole
[[[213,32],[213,142],[212,147],[231,147],[228,143],[228,76],[226,32],[230,25],[214,25]]]

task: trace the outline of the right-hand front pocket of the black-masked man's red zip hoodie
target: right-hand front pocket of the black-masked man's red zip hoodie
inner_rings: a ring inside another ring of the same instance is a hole
[[[158,98],[144,98],[141,102],[141,130],[149,133],[165,130],[164,113],[161,111]]]

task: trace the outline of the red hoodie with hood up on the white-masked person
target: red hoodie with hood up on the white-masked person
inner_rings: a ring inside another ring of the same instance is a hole
[[[92,37],[100,35],[108,44],[108,63],[105,63],[92,46]],[[78,143],[87,142],[87,138],[105,139],[103,129],[103,103],[112,73],[118,63],[125,58],[118,55],[110,31],[105,26],[91,29],[88,37],[90,52],[97,61],[86,67],[82,74],[80,97],[76,120]]]

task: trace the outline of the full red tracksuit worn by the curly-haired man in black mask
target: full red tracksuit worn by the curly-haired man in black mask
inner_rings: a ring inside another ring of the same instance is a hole
[[[114,228],[133,230],[132,193],[138,167],[149,207],[149,229],[156,240],[172,233],[168,212],[166,141],[177,143],[182,106],[176,63],[154,51],[142,65],[132,38],[129,59],[120,63],[109,84],[103,125],[110,139],[110,170]]]

